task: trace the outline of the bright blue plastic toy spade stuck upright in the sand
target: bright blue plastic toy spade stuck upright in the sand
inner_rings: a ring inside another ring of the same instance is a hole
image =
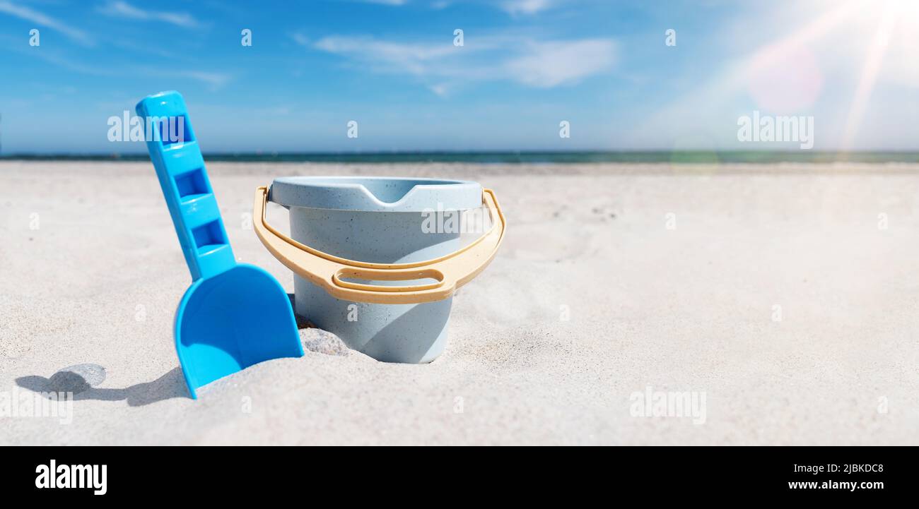
[[[191,271],[176,310],[176,352],[195,389],[263,360],[302,357],[288,294],[271,274],[236,263],[185,100],[163,92],[137,105],[147,149]]]

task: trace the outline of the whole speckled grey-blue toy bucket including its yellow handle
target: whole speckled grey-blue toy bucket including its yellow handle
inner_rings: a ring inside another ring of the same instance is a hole
[[[290,238],[267,223],[268,200],[289,210]],[[494,193],[453,180],[278,178],[256,190],[253,217],[258,238],[294,271],[297,313],[387,362],[440,355],[453,293],[505,232]]]

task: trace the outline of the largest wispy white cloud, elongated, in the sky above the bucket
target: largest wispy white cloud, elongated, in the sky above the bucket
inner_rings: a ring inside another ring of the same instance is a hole
[[[610,70],[617,54],[612,39],[576,39],[537,42],[512,37],[482,37],[474,44],[396,42],[371,37],[332,36],[312,44],[346,57],[371,72],[411,74],[437,95],[444,96],[461,83],[510,81],[550,88],[573,84]]]

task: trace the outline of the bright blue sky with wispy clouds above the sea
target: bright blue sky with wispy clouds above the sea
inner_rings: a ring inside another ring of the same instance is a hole
[[[913,0],[0,0],[3,152],[143,152],[108,118],[170,89],[206,152],[799,148],[754,110],[915,150],[917,37]]]

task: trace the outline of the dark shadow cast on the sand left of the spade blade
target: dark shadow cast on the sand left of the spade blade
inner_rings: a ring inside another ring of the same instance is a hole
[[[181,368],[168,371],[153,382],[136,383],[124,389],[91,387],[76,373],[55,373],[51,378],[32,375],[16,379],[16,384],[34,393],[74,393],[74,401],[122,401],[143,406],[172,398],[191,398]]]

